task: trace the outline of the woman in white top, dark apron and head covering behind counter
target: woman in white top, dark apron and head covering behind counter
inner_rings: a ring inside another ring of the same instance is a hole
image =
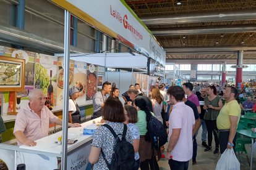
[[[80,109],[75,99],[79,98],[79,89],[73,86],[69,89],[69,123],[80,123]]]

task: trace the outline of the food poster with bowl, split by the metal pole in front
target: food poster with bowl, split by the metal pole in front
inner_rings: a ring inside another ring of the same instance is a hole
[[[69,61],[69,88],[74,86],[74,60]],[[64,86],[64,59],[58,58],[58,73],[57,73],[57,105],[58,109],[63,108],[63,86]]]

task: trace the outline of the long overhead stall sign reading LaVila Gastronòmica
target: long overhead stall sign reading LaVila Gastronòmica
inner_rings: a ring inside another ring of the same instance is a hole
[[[166,54],[123,0],[51,0],[103,33],[165,65]]]

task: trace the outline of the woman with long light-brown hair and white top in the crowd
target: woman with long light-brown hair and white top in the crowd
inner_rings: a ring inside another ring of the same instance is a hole
[[[153,107],[153,112],[155,117],[163,123],[163,118],[161,116],[161,111],[163,109],[163,95],[161,95],[160,90],[156,87],[151,89],[151,102]]]

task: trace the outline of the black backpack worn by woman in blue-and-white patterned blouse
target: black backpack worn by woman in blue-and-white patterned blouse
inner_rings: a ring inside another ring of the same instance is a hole
[[[101,149],[101,154],[108,166],[108,169],[134,169],[136,167],[136,161],[134,158],[134,146],[126,141],[127,125],[124,124],[124,131],[122,134],[118,135],[116,135],[116,132],[114,132],[112,127],[108,124],[104,124],[103,126],[107,127],[116,139],[116,145],[114,145],[114,153],[110,164],[106,160],[106,156]],[[119,136],[122,136],[121,140],[119,139]]]

